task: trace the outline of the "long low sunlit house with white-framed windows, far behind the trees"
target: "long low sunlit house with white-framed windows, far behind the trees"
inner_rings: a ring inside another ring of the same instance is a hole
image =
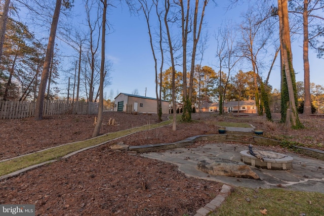
[[[224,112],[239,112],[239,113],[257,113],[255,100],[249,101],[228,101],[223,105]],[[219,103],[206,103],[201,105],[201,112],[219,112]]]

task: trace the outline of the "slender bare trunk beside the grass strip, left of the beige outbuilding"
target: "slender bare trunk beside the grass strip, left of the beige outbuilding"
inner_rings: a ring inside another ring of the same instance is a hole
[[[97,123],[92,134],[92,137],[99,136],[100,127],[103,118],[103,83],[104,83],[104,70],[105,70],[105,38],[106,38],[106,12],[107,0],[100,0],[103,3],[102,15],[102,35],[101,35],[101,65],[100,65],[100,84],[99,84],[99,107]]]

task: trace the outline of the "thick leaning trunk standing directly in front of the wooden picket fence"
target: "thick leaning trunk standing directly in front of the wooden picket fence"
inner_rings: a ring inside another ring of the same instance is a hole
[[[49,43],[47,45],[46,57],[43,66],[43,73],[41,83],[39,85],[38,97],[35,107],[35,120],[42,120],[43,119],[43,107],[44,107],[44,96],[46,91],[46,83],[49,76],[50,65],[52,60],[52,55],[54,51],[54,44],[55,44],[55,35],[56,35],[56,28],[57,23],[59,21],[59,15],[61,10],[62,0],[56,0],[56,6],[54,10],[52,25],[51,25],[51,32],[49,37]]]

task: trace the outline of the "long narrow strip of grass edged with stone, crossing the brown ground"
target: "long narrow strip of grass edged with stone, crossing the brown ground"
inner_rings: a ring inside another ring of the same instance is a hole
[[[41,152],[34,152],[29,155],[25,155],[25,156],[18,157],[15,159],[7,160],[7,161],[0,163],[0,176],[10,174],[11,172],[17,171],[22,168],[26,168],[31,165],[35,165],[38,163],[43,163],[43,162],[46,162],[49,160],[63,157],[69,153],[72,153],[74,151],[77,151],[77,150],[80,150],[83,148],[87,148],[90,146],[95,146],[95,145],[98,145],[101,143],[105,143],[110,140],[113,140],[113,139],[116,139],[119,137],[123,137],[123,136],[129,135],[129,134],[132,134],[132,133],[146,131],[148,129],[153,129],[153,128],[160,127],[160,126],[166,126],[170,123],[172,123],[172,119],[163,121],[160,123],[156,123],[156,124],[147,124],[147,125],[143,125],[143,126],[139,126],[139,127],[134,127],[131,129],[126,129],[125,131],[109,133],[109,134],[105,134],[100,137],[92,138],[89,140],[70,143],[67,145],[58,146],[58,147],[47,149],[47,150],[44,150]]]

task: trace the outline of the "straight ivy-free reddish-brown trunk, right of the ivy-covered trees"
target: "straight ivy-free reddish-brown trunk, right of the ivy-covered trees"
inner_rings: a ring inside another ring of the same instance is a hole
[[[310,99],[310,80],[309,80],[309,61],[308,61],[308,0],[304,0],[303,10],[303,60],[304,60],[304,115],[312,114],[311,99]]]

